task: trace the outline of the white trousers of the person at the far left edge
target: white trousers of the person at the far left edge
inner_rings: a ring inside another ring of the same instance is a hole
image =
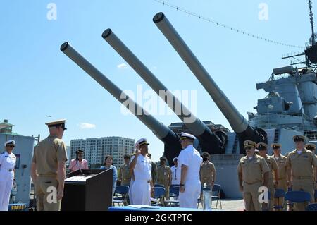
[[[13,186],[13,173],[13,171],[1,171],[0,169],[0,211],[8,211],[8,204]]]

